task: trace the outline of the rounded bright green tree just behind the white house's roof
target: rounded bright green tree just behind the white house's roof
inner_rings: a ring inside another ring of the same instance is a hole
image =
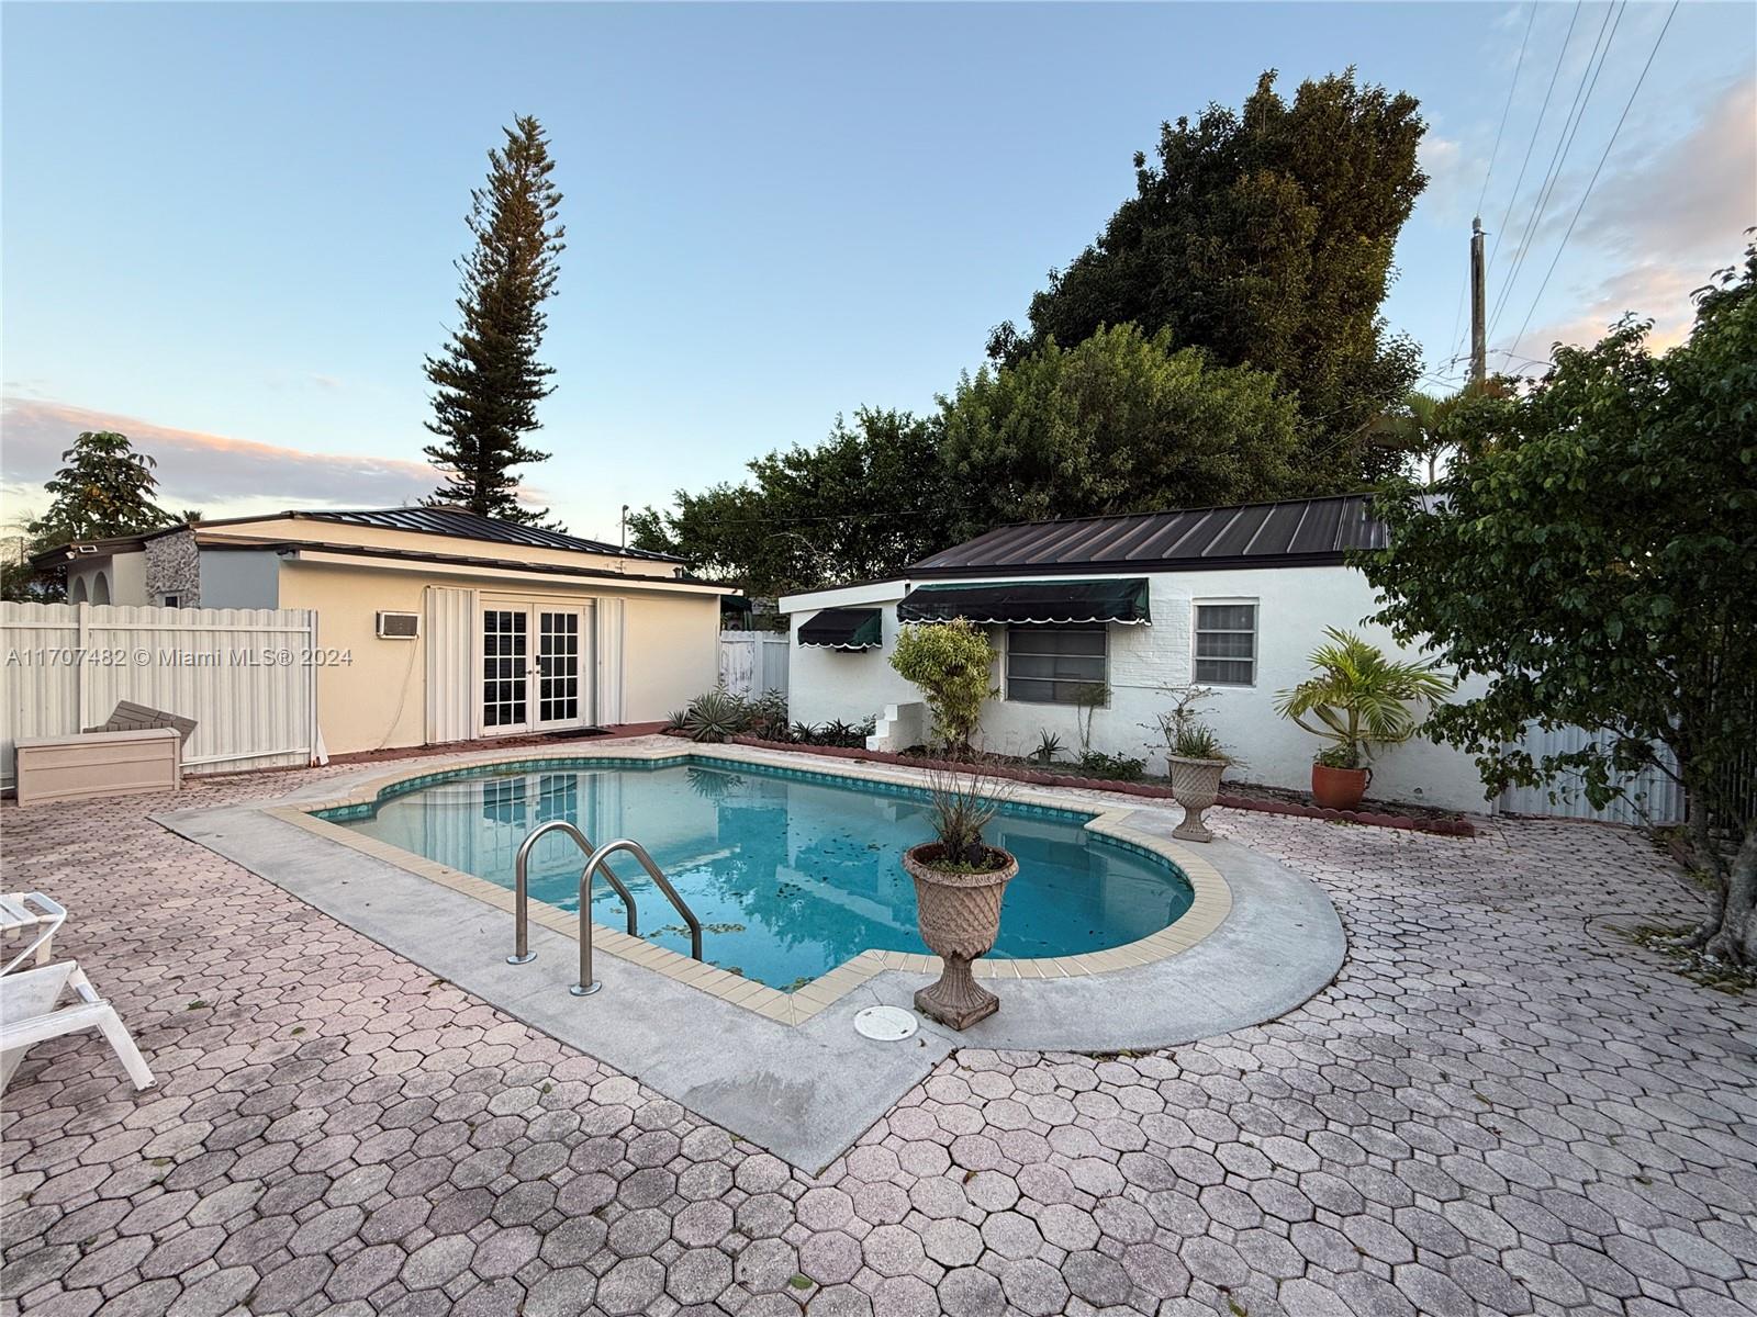
[[[1100,328],[984,367],[944,399],[954,530],[1003,522],[1276,499],[1298,409],[1274,376],[1172,349],[1170,330]]]

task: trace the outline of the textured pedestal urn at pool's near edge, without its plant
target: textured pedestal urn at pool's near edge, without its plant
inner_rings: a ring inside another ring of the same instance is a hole
[[[1000,1010],[1000,997],[977,987],[970,962],[989,954],[1000,936],[1000,899],[1019,873],[1019,860],[989,846],[1005,866],[989,873],[949,873],[933,867],[940,843],[903,852],[903,867],[915,880],[915,917],[921,939],[945,962],[940,982],[915,994],[915,1010],[952,1029],[968,1029]]]

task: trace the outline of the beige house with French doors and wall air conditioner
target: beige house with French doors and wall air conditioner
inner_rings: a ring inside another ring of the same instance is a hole
[[[682,558],[453,507],[306,509],[37,555],[72,604],[309,609],[330,753],[664,718],[719,673]]]

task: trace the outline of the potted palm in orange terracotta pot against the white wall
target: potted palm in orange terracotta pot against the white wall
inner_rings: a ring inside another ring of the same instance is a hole
[[[1353,810],[1372,781],[1367,760],[1414,736],[1416,715],[1458,683],[1437,664],[1386,658],[1353,632],[1327,627],[1325,636],[1307,658],[1312,676],[1276,695],[1276,711],[1328,743],[1312,760],[1312,799]]]

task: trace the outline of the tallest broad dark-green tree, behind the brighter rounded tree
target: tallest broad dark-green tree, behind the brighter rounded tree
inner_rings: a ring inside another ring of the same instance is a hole
[[[1233,111],[1211,105],[1135,156],[1135,195],[1031,300],[1030,328],[1001,325],[991,355],[1016,362],[1102,325],[1172,332],[1219,365],[1274,371],[1298,388],[1312,492],[1353,490],[1397,457],[1369,443],[1420,371],[1414,344],[1379,316],[1392,249],[1427,184],[1416,100],[1363,86],[1349,68],[1300,84],[1276,74]]]

